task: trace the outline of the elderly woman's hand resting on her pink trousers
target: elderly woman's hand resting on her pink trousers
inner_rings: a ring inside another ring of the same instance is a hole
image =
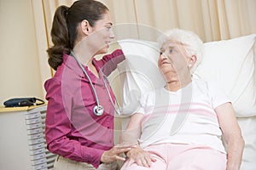
[[[127,166],[130,167],[132,163],[137,163],[138,166],[150,167],[152,161],[156,161],[154,157],[150,156],[148,151],[143,150],[139,145],[137,147],[131,148],[130,151],[126,153],[129,158]]]

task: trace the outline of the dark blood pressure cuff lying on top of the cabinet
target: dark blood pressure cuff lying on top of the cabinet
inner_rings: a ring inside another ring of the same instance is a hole
[[[8,99],[3,102],[3,105],[5,105],[5,107],[22,107],[22,106],[43,105],[43,104],[44,104],[44,100],[37,99],[37,98],[14,98],[14,99]]]

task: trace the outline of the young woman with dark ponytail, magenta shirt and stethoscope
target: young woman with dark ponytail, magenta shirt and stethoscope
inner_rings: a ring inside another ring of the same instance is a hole
[[[129,146],[113,146],[115,102],[106,77],[125,59],[120,49],[108,52],[113,39],[108,8],[94,0],[80,0],[55,11],[47,50],[55,70],[47,80],[48,109],[45,138],[49,151],[59,155],[55,169],[118,167],[119,154]]]

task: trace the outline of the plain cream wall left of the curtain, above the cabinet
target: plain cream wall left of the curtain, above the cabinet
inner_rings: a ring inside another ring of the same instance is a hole
[[[0,0],[0,105],[13,97],[44,99],[31,0]]]

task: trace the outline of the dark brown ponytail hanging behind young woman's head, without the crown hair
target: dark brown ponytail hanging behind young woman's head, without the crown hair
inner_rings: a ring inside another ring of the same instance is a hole
[[[67,13],[68,7],[66,6],[60,6],[56,9],[50,31],[54,46],[47,50],[49,55],[48,63],[54,70],[57,70],[57,67],[61,65],[63,53],[70,52],[66,20]]]

